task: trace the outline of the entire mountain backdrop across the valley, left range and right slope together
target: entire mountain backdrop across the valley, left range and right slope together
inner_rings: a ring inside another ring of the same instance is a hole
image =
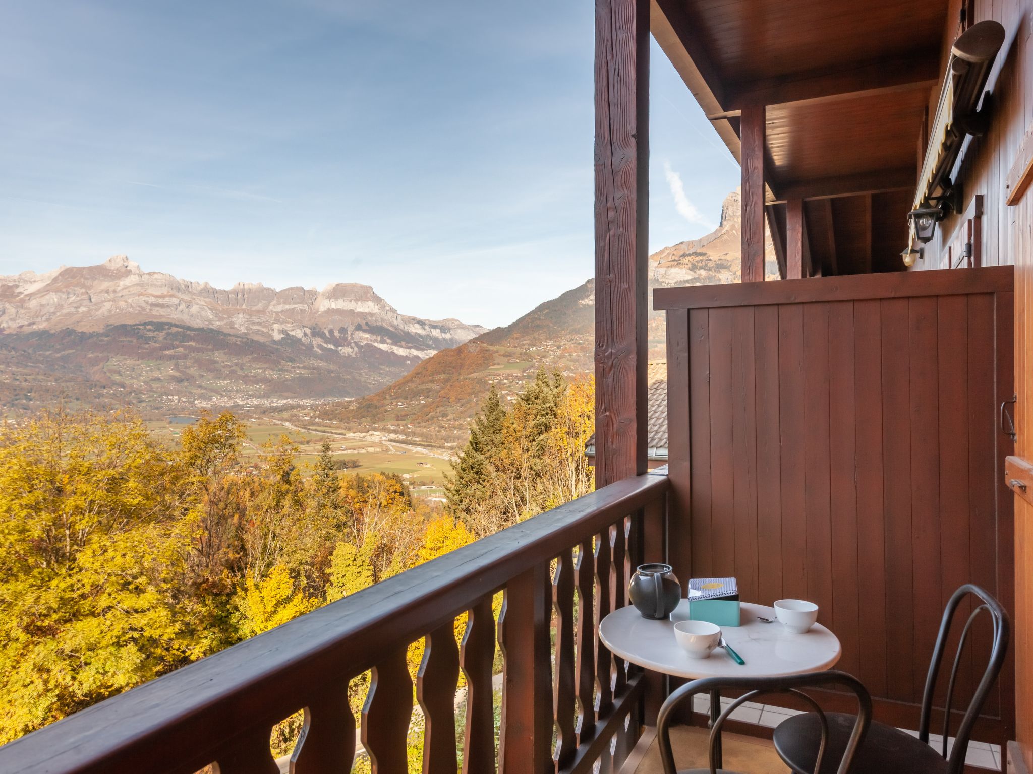
[[[738,281],[738,192],[718,222],[652,255],[651,286]],[[0,277],[0,406],[11,417],[130,406],[150,419],[231,409],[452,447],[492,384],[512,397],[539,367],[592,372],[594,302],[590,280],[488,330],[401,314],[368,285],[219,289],[115,256]],[[662,360],[663,316],[649,324]]]

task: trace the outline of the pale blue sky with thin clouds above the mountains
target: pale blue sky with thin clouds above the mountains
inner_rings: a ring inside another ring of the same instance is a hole
[[[505,325],[592,276],[592,0],[5,0],[0,275],[128,255]],[[650,251],[739,167],[652,43]]]

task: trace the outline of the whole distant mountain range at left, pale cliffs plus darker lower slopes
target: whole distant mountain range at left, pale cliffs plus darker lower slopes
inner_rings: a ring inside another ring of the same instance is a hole
[[[349,397],[484,331],[399,314],[367,285],[222,290],[115,256],[0,277],[0,404],[62,390],[153,409]]]

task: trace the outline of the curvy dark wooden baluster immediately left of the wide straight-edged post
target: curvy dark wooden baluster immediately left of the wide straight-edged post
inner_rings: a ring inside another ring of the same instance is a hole
[[[495,616],[492,596],[469,613],[460,652],[466,675],[466,732],[463,737],[463,774],[495,771],[495,709],[492,666],[495,662]]]

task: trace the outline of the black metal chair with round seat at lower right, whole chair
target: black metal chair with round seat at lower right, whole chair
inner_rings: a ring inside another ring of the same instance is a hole
[[[929,722],[933,710],[933,694],[936,689],[936,679],[940,671],[940,663],[943,660],[943,651],[946,647],[947,635],[950,633],[951,621],[962,600],[969,594],[978,598],[980,604],[969,615],[958,643],[953,667],[950,670],[950,681],[947,683],[946,704],[943,713],[942,749],[937,752],[929,745]],[[972,701],[969,703],[965,716],[962,718],[961,725],[958,728],[954,745],[948,757],[947,737],[950,731],[950,703],[958,677],[958,666],[961,663],[962,651],[969,631],[972,628],[972,623],[983,612],[993,618],[994,641],[990,662]],[[1001,604],[987,591],[971,583],[967,583],[954,591],[943,611],[940,633],[936,638],[936,647],[929,665],[929,676],[926,678],[926,690],[921,699],[918,737],[915,738],[891,725],[873,722],[864,744],[857,751],[854,770],[856,772],[874,772],[875,774],[925,774],[926,772],[961,774],[965,767],[965,755],[968,752],[972,728],[987,701],[987,695],[1001,671],[1007,648],[1008,614],[1001,607]],[[832,774],[832,769],[826,765],[826,762],[822,763],[820,770],[815,767],[816,757],[822,757],[822,751],[825,753],[825,759],[829,752],[835,756],[838,750],[844,749],[848,744],[849,728],[853,723],[853,716],[829,712],[826,713],[826,718],[827,734],[825,733],[825,719],[819,718],[813,713],[794,715],[775,729],[775,749],[778,750],[786,765],[797,774],[812,774],[812,772]]]

